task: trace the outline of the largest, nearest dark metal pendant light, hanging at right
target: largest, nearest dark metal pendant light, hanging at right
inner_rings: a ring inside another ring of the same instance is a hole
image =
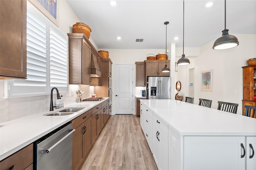
[[[214,44],[213,49],[229,49],[239,45],[238,39],[228,34],[228,30],[226,29],[226,0],[225,0],[225,29],[222,31],[222,36],[218,38]]]

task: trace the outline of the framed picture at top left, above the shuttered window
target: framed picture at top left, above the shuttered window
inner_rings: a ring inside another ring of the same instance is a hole
[[[58,8],[57,0],[28,0],[40,12],[42,12],[50,21],[58,26]]]

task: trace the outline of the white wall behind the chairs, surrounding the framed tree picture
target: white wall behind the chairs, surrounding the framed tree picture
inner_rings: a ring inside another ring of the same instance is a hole
[[[194,67],[194,104],[199,103],[199,98],[212,100],[212,108],[217,109],[218,101],[238,103],[237,114],[242,115],[242,98],[243,98],[243,78],[242,67],[247,65],[247,60],[256,56],[256,35],[234,35],[238,38],[237,47],[225,50],[213,50],[212,42],[203,45],[200,48],[200,56],[190,58],[190,65],[186,68],[178,68],[179,77],[188,84],[188,69]],[[193,66],[194,65],[194,66]],[[186,69],[184,71],[184,69]],[[201,91],[201,71],[213,69],[213,91]],[[182,74],[182,75],[181,75]],[[183,96],[188,95],[184,91]]]

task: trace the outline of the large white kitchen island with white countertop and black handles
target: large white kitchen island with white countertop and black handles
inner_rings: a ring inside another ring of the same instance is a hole
[[[256,119],[177,100],[140,104],[158,169],[256,170]]]

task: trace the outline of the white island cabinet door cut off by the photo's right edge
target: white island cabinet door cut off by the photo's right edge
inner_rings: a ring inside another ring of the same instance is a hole
[[[256,136],[246,137],[246,170],[256,170]]]

